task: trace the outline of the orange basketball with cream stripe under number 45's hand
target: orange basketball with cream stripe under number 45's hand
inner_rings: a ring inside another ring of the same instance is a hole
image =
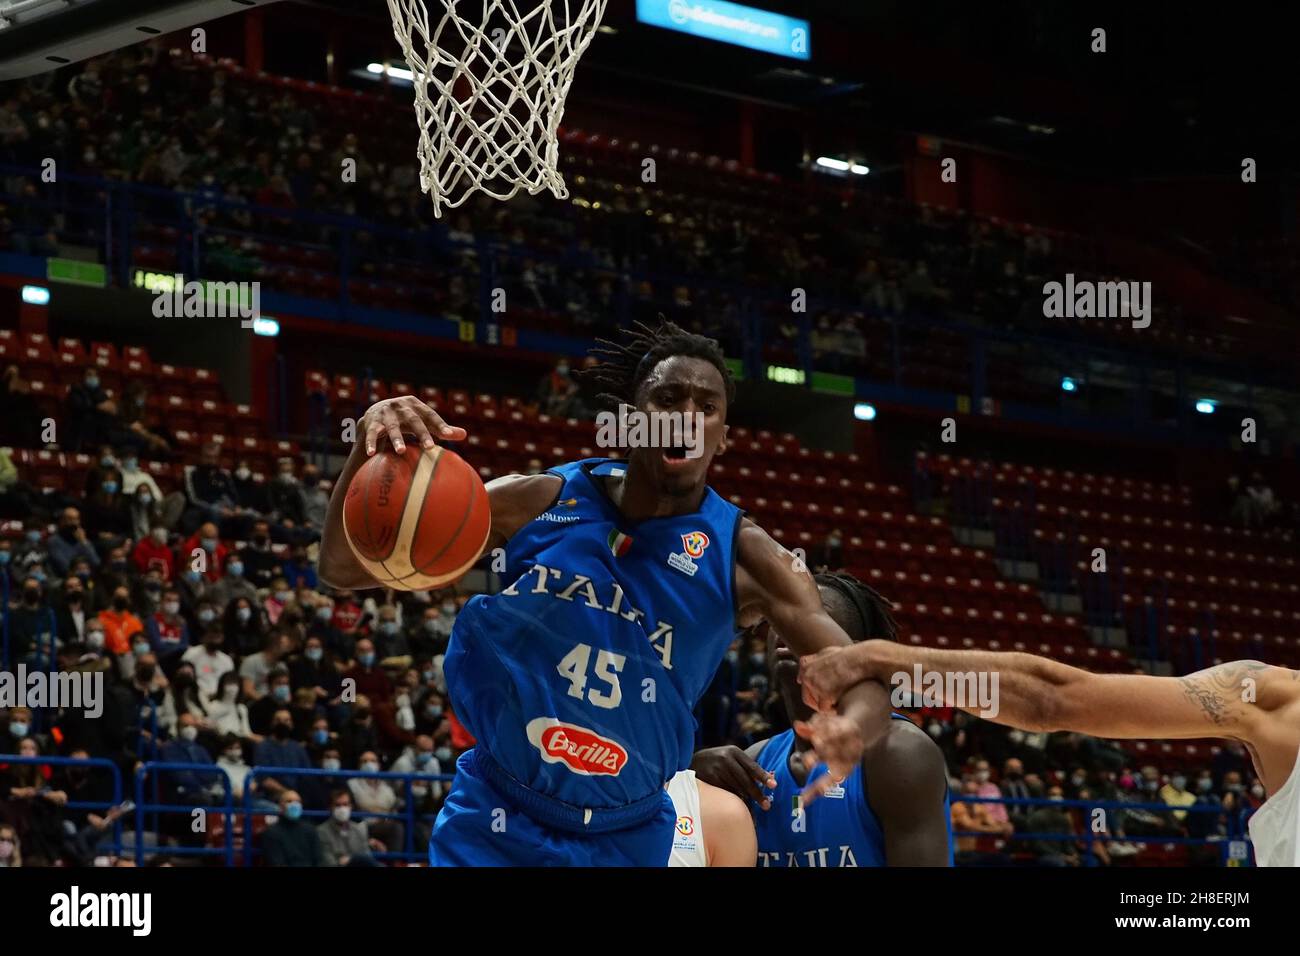
[[[407,444],[356,470],[343,499],[352,554],[385,587],[441,588],[478,559],[491,511],[478,473],[455,451]]]

